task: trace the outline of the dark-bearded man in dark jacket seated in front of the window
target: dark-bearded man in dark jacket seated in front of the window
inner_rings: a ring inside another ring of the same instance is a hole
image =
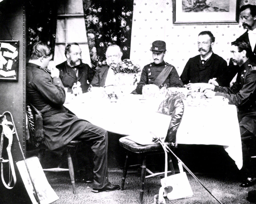
[[[77,43],[68,44],[65,48],[67,61],[57,65],[60,70],[60,80],[64,87],[68,87],[68,92],[73,92],[74,83],[80,82],[83,93],[87,92],[95,71],[88,64],[81,60],[81,48]]]

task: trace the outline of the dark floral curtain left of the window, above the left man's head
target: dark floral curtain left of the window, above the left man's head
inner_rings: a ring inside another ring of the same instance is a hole
[[[26,28],[27,28],[27,58],[30,57],[30,49],[38,41],[47,43],[54,53],[57,6],[54,0],[27,0]]]

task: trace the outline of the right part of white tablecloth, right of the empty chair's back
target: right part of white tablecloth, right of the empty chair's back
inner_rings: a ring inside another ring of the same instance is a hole
[[[185,104],[176,142],[223,145],[238,169],[242,168],[242,144],[235,105],[196,107]]]

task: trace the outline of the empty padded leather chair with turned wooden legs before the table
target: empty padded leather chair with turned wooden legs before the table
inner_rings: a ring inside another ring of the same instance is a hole
[[[182,99],[180,96],[169,96],[168,98],[164,99],[164,101],[160,104],[159,113],[164,113],[172,116],[167,136],[165,138],[165,144],[169,148],[173,148],[175,142],[176,142],[176,132],[177,128],[180,124],[183,112],[184,112],[184,104],[182,102]],[[147,145],[141,145],[136,142],[133,142],[131,139],[128,139],[129,136],[121,137],[119,139],[119,143],[122,147],[124,147],[127,150],[127,155],[125,158],[124,163],[124,172],[122,177],[122,183],[121,183],[121,190],[124,190],[124,182],[128,170],[128,158],[129,155],[132,153],[140,154],[142,158],[142,168],[141,168],[141,177],[140,177],[140,200],[139,202],[142,203],[143,200],[143,194],[144,194],[144,181],[145,178],[151,178],[154,176],[163,175],[162,173],[155,173],[153,174],[146,168],[146,157],[150,154],[156,154],[156,153],[164,153],[163,147],[160,143],[154,143],[154,144],[147,144]],[[174,174],[174,168],[172,164],[172,159],[170,154],[168,153],[168,167],[171,171],[171,174]],[[146,171],[151,173],[151,175],[146,176]]]

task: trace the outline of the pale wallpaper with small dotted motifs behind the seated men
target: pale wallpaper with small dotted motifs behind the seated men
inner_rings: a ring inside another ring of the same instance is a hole
[[[240,6],[243,4],[256,5],[256,0],[241,0]],[[213,52],[227,62],[230,58],[230,43],[245,32],[241,23],[173,25],[172,0],[134,0],[130,59],[137,62],[142,69],[153,62],[152,52],[149,50],[152,42],[164,40],[167,49],[164,60],[175,66],[181,75],[188,59],[199,54],[197,36],[204,30],[213,33]]]

